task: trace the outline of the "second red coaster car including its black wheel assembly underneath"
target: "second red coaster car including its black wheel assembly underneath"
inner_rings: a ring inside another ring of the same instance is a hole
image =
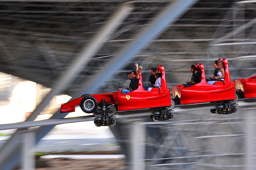
[[[175,104],[214,102],[218,106],[216,106],[217,109],[211,109],[211,113],[217,115],[237,113],[236,106],[238,104],[236,104],[236,101],[238,96],[235,94],[235,83],[230,80],[228,60],[224,58],[222,62],[225,65],[225,80],[216,81],[215,85],[207,84],[204,65],[202,63],[196,64],[196,68],[201,70],[202,81],[190,87],[184,87],[184,85],[172,86]]]

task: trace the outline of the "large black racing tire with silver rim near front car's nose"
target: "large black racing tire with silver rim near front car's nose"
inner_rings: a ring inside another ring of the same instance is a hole
[[[92,96],[85,96],[80,102],[80,107],[85,113],[93,113],[98,109],[98,102]]]

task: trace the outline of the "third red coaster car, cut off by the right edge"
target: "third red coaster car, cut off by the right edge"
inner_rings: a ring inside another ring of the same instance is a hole
[[[256,97],[256,75],[246,79],[239,78],[233,82],[239,99]]]

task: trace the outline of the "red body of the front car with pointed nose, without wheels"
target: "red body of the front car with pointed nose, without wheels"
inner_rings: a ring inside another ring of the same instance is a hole
[[[168,89],[166,84],[164,67],[162,65],[158,65],[157,70],[162,73],[162,85],[161,88],[152,88],[151,92],[144,90],[140,73],[139,87],[132,92],[126,94],[122,94],[122,92],[109,92],[89,96],[95,98],[98,104],[101,103],[102,99],[105,99],[106,104],[114,105],[117,111],[171,106],[170,89]],[[61,105],[60,112],[74,112],[75,106],[80,105],[81,100],[85,96]]]

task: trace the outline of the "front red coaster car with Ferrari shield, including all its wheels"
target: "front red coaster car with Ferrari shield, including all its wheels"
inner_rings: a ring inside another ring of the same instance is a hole
[[[85,113],[93,113],[96,116],[94,123],[97,127],[100,127],[115,125],[114,114],[116,111],[143,108],[152,108],[154,110],[160,107],[161,113],[155,112],[155,115],[152,117],[153,120],[172,120],[174,116],[170,109],[174,107],[174,102],[171,101],[170,89],[167,88],[164,67],[158,65],[156,69],[159,73],[162,73],[161,88],[152,88],[151,92],[145,91],[140,73],[138,89],[126,94],[122,94],[122,92],[85,94],[80,98],[61,105],[60,113],[74,112],[75,106],[79,105]]]

